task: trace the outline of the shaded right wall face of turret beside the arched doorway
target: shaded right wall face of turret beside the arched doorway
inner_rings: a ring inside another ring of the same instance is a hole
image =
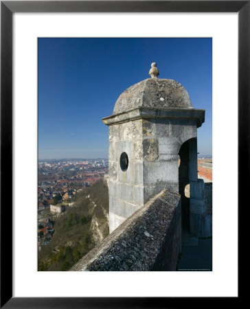
[[[179,149],[193,137],[194,120],[144,119],[144,203],[164,188],[179,192]]]

